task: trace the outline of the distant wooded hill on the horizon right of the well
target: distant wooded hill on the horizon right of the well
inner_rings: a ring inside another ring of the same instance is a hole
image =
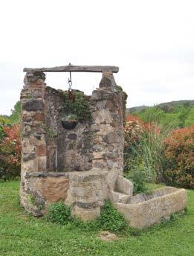
[[[194,106],[194,100],[174,100],[174,101],[160,103],[158,105],[155,105],[155,107],[163,109],[164,112],[172,112],[173,109],[178,106],[184,106],[184,107]],[[126,109],[126,112],[127,113],[141,112],[143,109],[146,109],[148,107],[149,106],[144,106],[144,105],[143,106],[133,106],[132,108]]]

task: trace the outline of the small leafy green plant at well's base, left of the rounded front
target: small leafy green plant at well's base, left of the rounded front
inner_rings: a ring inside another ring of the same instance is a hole
[[[55,202],[48,207],[46,219],[51,223],[66,225],[72,221],[70,206]]]

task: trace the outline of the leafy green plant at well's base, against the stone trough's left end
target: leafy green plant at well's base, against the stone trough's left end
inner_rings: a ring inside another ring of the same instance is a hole
[[[115,233],[123,233],[128,228],[128,223],[123,214],[120,214],[108,200],[103,206],[100,216],[97,217],[97,223],[100,229]]]

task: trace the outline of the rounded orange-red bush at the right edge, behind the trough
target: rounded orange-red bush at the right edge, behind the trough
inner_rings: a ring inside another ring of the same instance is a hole
[[[164,139],[164,148],[166,182],[194,188],[194,125],[172,131]]]

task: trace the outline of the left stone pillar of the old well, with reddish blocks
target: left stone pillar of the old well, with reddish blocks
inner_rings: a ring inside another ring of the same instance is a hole
[[[45,143],[45,74],[40,71],[25,75],[25,86],[21,92],[22,103],[22,170],[21,199],[26,207],[28,182],[26,173],[46,170]],[[25,200],[26,199],[26,200]]]

